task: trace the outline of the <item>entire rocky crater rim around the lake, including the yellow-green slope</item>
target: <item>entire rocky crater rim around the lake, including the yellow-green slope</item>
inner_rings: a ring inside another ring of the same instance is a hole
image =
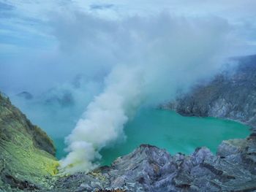
[[[223,141],[217,154],[199,147],[191,155],[170,155],[140,145],[87,174],[58,173],[53,142],[0,94],[0,191],[256,191],[255,61],[243,58],[233,74],[219,74],[162,106],[246,123],[249,137]]]

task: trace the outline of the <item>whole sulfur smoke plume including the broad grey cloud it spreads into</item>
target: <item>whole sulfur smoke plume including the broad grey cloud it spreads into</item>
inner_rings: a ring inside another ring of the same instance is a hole
[[[99,55],[108,55],[106,62],[112,63],[102,93],[66,138],[69,153],[61,160],[65,172],[94,169],[102,147],[125,139],[124,125],[139,107],[156,106],[211,77],[232,47],[230,27],[220,18],[72,17],[73,26],[87,24],[86,40],[79,46],[100,45]]]

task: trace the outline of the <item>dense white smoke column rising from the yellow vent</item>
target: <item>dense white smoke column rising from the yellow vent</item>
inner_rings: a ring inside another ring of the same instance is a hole
[[[93,169],[100,158],[99,150],[124,136],[123,126],[129,111],[138,107],[141,90],[140,74],[127,66],[118,66],[111,72],[105,91],[89,104],[83,118],[67,137],[70,153],[62,166],[70,164],[69,171]]]

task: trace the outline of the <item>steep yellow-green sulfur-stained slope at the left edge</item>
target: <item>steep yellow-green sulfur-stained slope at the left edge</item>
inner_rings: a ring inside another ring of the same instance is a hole
[[[47,188],[55,153],[47,134],[0,93],[0,191]]]

